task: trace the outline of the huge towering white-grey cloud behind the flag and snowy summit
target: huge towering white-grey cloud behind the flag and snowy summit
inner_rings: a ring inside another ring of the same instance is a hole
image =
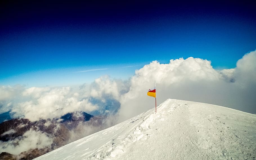
[[[244,55],[234,69],[217,71],[211,62],[189,57],[170,60],[169,64],[153,61],[136,70],[129,92],[120,97],[120,121],[154,107],[154,98],[146,96],[157,83],[158,104],[167,98],[222,105],[256,113],[256,51]],[[254,97],[254,98],[253,98]]]

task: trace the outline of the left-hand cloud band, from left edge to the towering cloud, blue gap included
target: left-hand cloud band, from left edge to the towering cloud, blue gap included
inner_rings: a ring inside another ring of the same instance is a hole
[[[97,114],[114,114],[120,107],[120,95],[129,91],[128,81],[102,76],[92,84],[79,87],[1,86],[1,110],[10,111],[14,118],[30,121],[59,118],[62,115],[83,111]],[[17,91],[17,92],[15,92]],[[7,101],[8,100],[8,101]],[[97,112],[96,112],[97,111]]]

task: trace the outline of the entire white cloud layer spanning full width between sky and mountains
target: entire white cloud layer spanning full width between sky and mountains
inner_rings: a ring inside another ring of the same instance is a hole
[[[153,61],[129,80],[102,76],[92,84],[71,87],[0,87],[0,112],[31,121],[52,119],[68,112],[116,114],[125,120],[154,107],[147,96],[157,84],[157,103],[168,98],[205,102],[256,113],[256,51],[245,54],[236,68],[215,70],[209,60],[179,58],[168,64]]]

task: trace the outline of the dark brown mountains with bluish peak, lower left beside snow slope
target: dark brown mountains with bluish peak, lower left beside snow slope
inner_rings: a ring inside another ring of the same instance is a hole
[[[30,160],[41,156],[51,150],[87,136],[84,134],[86,127],[96,128],[95,132],[104,129],[104,118],[94,117],[86,112],[72,112],[53,120],[39,120],[31,122],[28,119],[12,119],[0,124],[0,141],[8,142],[15,139],[22,139],[23,134],[29,130],[40,131],[52,138],[53,143],[43,149],[31,148],[19,155],[12,155],[6,152],[1,153],[0,159]],[[97,130],[98,129],[98,130]],[[75,133],[81,133],[74,138]],[[88,134],[92,134],[89,133]],[[72,137],[73,136],[73,137]],[[81,137],[82,136],[82,137]]]

